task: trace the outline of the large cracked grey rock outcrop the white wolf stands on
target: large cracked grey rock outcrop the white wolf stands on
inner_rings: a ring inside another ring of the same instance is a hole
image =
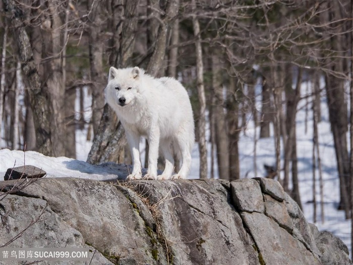
[[[19,183],[0,182],[0,245],[25,230],[9,247],[90,247],[91,264],[351,264],[273,180]]]

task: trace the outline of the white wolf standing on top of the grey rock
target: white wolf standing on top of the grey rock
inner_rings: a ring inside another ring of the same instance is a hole
[[[144,179],[185,179],[191,168],[191,150],[195,142],[194,119],[188,92],[174,78],[154,78],[134,67],[110,67],[105,98],[122,122],[131,155],[133,171],[127,179],[141,179],[139,143],[141,136],[149,143],[148,169]],[[174,147],[182,162],[172,176]],[[165,168],[157,176],[158,150],[165,158]]]

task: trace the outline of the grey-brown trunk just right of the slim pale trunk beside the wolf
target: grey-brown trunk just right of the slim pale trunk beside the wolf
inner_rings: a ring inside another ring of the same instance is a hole
[[[213,115],[215,121],[217,162],[220,179],[229,179],[229,143],[228,130],[224,113],[223,85],[221,79],[221,63],[218,53],[212,54],[212,90]]]

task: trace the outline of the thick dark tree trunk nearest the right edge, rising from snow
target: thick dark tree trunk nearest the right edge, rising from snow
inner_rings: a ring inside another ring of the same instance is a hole
[[[329,28],[324,32],[328,49],[335,51],[333,57],[324,57],[324,64],[328,72],[325,73],[325,89],[329,108],[331,131],[333,133],[334,147],[336,152],[337,169],[340,187],[340,203],[338,208],[345,211],[345,218],[349,218],[350,210],[350,184],[349,184],[349,158],[347,151],[346,132],[348,130],[347,105],[344,99],[344,80],[335,76],[335,73],[344,73],[344,39],[342,34],[342,12],[340,5],[335,1],[324,2],[322,8],[325,12],[320,13],[320,22],[325,24],[334,18],[339,21],[335,24],[336,30],[330,32]]]

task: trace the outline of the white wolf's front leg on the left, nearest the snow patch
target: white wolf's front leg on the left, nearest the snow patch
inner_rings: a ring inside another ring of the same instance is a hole
[[[140,135],[126,130],[126,138],[130,147],[133,160],[133,172],[126,178],[127,180],[136,180],[142,178],[140,162]]]

